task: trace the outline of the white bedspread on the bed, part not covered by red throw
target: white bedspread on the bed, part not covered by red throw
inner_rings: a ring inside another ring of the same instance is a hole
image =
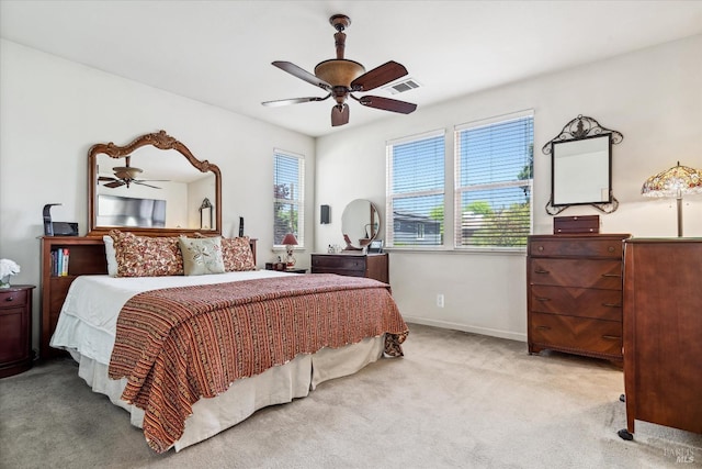
[[[103,365],[110,364],[117,316],[137,293],[171,287],[224,283],[295,273],[250,270],[206,276],[109,277],[81,276],[70,286],[49,345],[77,350]]]

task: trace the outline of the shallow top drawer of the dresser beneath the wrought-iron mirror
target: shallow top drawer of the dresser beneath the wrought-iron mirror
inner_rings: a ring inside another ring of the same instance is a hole
[[[551,238],[530,239],[530,256],[587,256],[587,257],[611,257],[621,259],[624,252],[624,243],[620,238]]]

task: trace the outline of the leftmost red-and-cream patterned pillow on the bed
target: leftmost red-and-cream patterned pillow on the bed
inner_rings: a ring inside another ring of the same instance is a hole
[[[136,236],[112,230],[117,277],[182,276],[183,257],[178,237]]]

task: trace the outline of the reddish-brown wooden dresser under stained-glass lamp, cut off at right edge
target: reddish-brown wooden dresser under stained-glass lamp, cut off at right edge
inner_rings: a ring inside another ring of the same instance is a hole
[[[641,420],[702,434],[702,238],[624,247],[626,431]]]

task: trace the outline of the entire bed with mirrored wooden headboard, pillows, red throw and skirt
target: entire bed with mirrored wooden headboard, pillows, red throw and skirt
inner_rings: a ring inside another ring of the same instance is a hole
[[[132,212],[105,221],[101,197],[128,189],[131,174],[117,170],[137,161],[151,179],[160,165],[184,163],[196,203],[169,200],[183,213],[162,227],[135,224]],[[88,167],[88,235],[42,238],[41,356],[67,350],[155,451],[181,450],[258,409],[401,356],[407,325],[388,284],[256,270],[244,219],[238,237],[222,234],[219,168],[165,131],[95,144]],[[181,227],[194,224],[189,208],[197,205],[200,230]],[[68,250],[65,276],[54,258]]]

